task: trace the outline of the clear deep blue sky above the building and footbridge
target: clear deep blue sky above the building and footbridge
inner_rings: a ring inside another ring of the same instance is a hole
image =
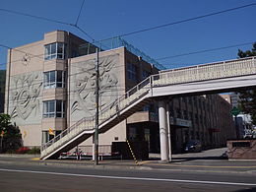
[[[0,0],[0,9],[72,23],[83,0]],[[255,0],[85,0],[79,27],[96,40],[194,18],[230,8],[256,3]],[[154,31],[125,36],[124,39],[153,58],[162,58],[256,41],[256,6],[203,18]],[[73,32],[90,40],[83,32],[65,25],[17,16],[0,11],[0,44],[17,47],[43,38],[55,30]],[[191,54],[160,60],[166,68],[209,63],[237,57],[237,49]],[[5,68],[7,49],[0,47],[0,68]]]

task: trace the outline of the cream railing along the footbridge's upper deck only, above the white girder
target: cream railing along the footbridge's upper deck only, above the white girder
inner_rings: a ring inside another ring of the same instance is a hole
[[[229,60],[161,71],[153,75],[153,86],[190,83],[256,74],[256,57]]]

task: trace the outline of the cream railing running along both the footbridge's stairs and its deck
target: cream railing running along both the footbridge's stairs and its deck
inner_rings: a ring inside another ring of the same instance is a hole
[[[148,94],[153,87],[256,74],[255,61],[256,57],[249,57],[211,63],[208,65],[204,64],[171,69],[160,74],[152,75],[104,107],[99,113],[99,126],[114,115],[118,115],[118,113],[122,112],[127,106],[136,102],[142,96]],[[42,145],[41,153],[42,155],[48,154],[49,152],[44,153],[44,151],[50,146],[53,146],[53,144],[56,144],[52,147],[52,150],[55,150],[83,131],[94,129],[95,117],[83,118],[68,129],[63,130],[58,136],[54,137],[46,144]],[[71,136],[68,137],[67,135]]]

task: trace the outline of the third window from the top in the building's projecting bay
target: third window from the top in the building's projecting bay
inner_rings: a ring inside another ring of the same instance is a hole
[[[65,102],[63,100],[47,100],[43,102],[43,118],[65,117]]]

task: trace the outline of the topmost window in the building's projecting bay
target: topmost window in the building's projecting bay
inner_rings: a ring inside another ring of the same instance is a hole
[[[65,59],[65,44],[63,42],[54,42],[46,44],[44,53],[44,60],[49,59]]]

